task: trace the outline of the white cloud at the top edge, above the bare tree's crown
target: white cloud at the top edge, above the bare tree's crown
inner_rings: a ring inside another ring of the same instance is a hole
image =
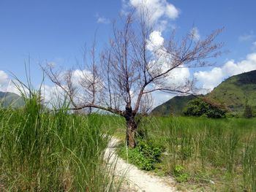
[[[156,24],[159,30],[164,30],[167,20],[178,18],[180,11],[167,0],[123,0],[122,12],[126,12],[130,7],[134,7],[138,14],[142,10],[148,11],[149,22],[151,25]]]

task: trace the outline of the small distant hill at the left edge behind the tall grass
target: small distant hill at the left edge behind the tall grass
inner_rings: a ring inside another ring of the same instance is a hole
[[[16,93],[1,92],[0,91],[0,106],[19,108],[24,105],[23,98]]]

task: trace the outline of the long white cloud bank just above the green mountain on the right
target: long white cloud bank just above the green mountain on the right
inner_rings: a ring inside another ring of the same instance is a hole
[[[250,72],[256,69],[256,53],[251,53],[242,61],[227,61],[222,67],[214,67],[211,71],[195,72],[194,76],[203,84],[203,88],[211,91],[222,80],[232,75]]]

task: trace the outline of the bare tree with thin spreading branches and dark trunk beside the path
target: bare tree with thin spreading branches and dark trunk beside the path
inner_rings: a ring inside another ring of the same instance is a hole
[[[71,110],[96,108],[121,115],[127,122],[126,140],[135,147],[137,116],[149,110],[151,93],[187,93],[195,91],[194,80],[184,80],[182,85],[165,83],[178,68],[208,66],[208,58],[217,57],[222,43],[215,43],[222,30],[213,31],[205,39],[195,39],[195,30],[176,41],[175,33],[161,45],[154,45],[153,32],[146,12],[140,17],[126,16],[122,28],[113,24],[113,37],[105,50],[96,57],[95,45],[91,50],[91,63],[81,70],[80,88],[72,83],[72,72],[63,75],[44,68],[50,80],[67,93]],[[83,90],[83,94],[81,94]],[[83,99],[81,98],[83,97]]]

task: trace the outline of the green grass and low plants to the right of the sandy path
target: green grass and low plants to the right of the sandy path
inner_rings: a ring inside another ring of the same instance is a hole
[[[255,118],[144,118],[129,161],[172,175],[180,190],[256,191],[255,126]],[[124,145],[119,154],[127,159]]]

